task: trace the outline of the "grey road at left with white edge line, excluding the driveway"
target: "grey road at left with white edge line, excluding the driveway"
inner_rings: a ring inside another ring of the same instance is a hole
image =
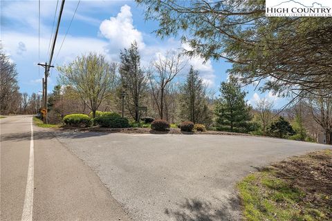
[[[0,119],[0,220],[31,220],[30,209],[32,220],[129,220],[98,176],[50,130],[33,126],[34,160],[30,166],[34,162],[34,173],[27,182],[31,119]],[[26,194],[27,186],[33,187],[31,195]],[[26,215],[22,218],[24,208]]]

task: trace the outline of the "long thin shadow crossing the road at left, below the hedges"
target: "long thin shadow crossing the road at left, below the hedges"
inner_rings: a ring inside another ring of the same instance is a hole
[[[33,139],[34,140],[51,140],[55,137],[64,138],[64,139],[79,139],[84,137],[100,137],[107,135],[107,133],[96,133],[96,132],[75,132],[75,131],[34,131]],[[30,140],[31,133],[8,133],[1,135],[2,141],[23,141]]]

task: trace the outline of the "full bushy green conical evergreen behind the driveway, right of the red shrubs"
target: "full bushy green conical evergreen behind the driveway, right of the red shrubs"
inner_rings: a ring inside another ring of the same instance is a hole
[[[234,81],[222,82],[220,98],[216,102],[216,123],[229,131],[248,131],[250,129],[250,106],[246,104],[246,92]]]

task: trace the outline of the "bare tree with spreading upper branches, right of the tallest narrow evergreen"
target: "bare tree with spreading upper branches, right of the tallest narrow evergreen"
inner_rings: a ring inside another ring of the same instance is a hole
[[[165,57],[159,55],[158,59],[152,61],[148,77],[160,119],[164,119],[165,117],[165,95],[167,87],[181,73],[184,67],[185,64],[181,61],[181,55],[174,52],[167,52]]]

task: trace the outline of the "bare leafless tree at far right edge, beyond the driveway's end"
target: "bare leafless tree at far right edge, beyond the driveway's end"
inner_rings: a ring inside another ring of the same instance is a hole
[[[324,95],[325,92],[317,90],[317,94]],[[315,122],[322,126],[326,136],[326,144],[332,144],[332,95],[308,97],[308,105]]]

